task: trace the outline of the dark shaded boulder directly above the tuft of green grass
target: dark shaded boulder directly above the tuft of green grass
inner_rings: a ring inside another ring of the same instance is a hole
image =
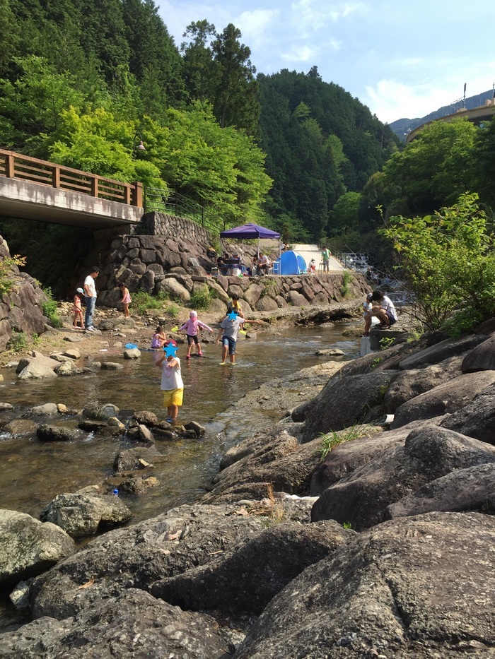
[[[383,396],[391,378],[392,372],[386,371],[332,378],[310,404],[303,441],[378,419],[383,415]],[[301,419],[293,414],[293,420]]]

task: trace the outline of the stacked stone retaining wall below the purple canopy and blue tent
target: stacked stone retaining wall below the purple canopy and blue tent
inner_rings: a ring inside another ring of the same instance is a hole
[[[235,247],[230,251],[233,253]],[[245,263],[251,263],[256,251],[257,244],[245,244]],[[369,290],[363,275],[356,273],[352,275],[345,296],[342,295],[342,273],[250,278],[211,276],[216,259],[208,256],[211,253],[209,232],[190,220],[163,213],[147,213],[136,234],[113,237],[111,242],[107,238],[105,244],[98,245],[98,252],[102,261],[96,280],[98,304],[107,307],[118,306],[122,297],[118,287],[121,282],[131,293],[138,290],[153,295],[166,292],[170,298],[185,304],[206,285],[211,292],[213,309],[215,306],[225,309],[225,302],[235,293],[245,311],[341,302],[344,297],[363,297]]]

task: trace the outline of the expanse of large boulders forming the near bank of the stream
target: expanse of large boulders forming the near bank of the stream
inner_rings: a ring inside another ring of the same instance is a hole
[[[0,657],[491,656],[493,328],[274,379],[236,405],[279,420],[223,456],[201,501],[78,550],[78,524],[120,509],[109,489],[65,493],[42,522],[4,511],[0,581],[31,622]],[[125,457],[150,463],[173,429],[131,422]]]

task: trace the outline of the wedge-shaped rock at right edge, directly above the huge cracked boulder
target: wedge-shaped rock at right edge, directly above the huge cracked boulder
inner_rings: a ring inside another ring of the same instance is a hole
[[[388,506],[388,518],[432,511],[495,511],[495,464],[457,469]]]

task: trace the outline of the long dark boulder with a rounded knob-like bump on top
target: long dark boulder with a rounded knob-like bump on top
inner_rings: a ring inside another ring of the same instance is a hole
[[[313,521],[335,519],[363,530],[387,518],[386,509],[425,483],[455,469],[495,462],[495,447],[451,430],[426,427],[409,433],[404,446],[385,449],[368,464],[323,492]]]

